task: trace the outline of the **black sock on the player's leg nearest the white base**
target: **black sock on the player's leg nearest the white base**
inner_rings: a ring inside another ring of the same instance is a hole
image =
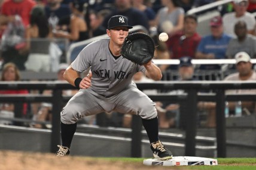
[[[142,119],[142,125],[144,126],[150,143],[154,143],[159,140],[159,120],[154,119]]]

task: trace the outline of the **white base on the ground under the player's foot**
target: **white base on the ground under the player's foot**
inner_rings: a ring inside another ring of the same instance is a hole
[[[218,165],[217,159],[193,156],[173,156],[168,160],[144,159],[144,165],[184,166],[184,165]]]

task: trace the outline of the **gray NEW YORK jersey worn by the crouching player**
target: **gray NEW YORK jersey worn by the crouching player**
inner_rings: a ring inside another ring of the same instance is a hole
[[[132,63],[123,56],[112,57],[108,47],[109,38],[100,39],[87,45],[71,64],[77,72],[91,67],[92,90],[103,96],[118,94],[132,82],[136,72],[145,73],[145,67]]]

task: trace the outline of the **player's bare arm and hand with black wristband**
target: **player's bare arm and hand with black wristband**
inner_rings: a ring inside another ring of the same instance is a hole
[[[71,66],[66,69],[65,73],[63,74],[63,78],[69,82],[69,84],[73,86],[77,86],[78,88],[90,88],[91,86],[91,78],[92,73],[83,79],[80,78],[80,73],[74,70]]]

